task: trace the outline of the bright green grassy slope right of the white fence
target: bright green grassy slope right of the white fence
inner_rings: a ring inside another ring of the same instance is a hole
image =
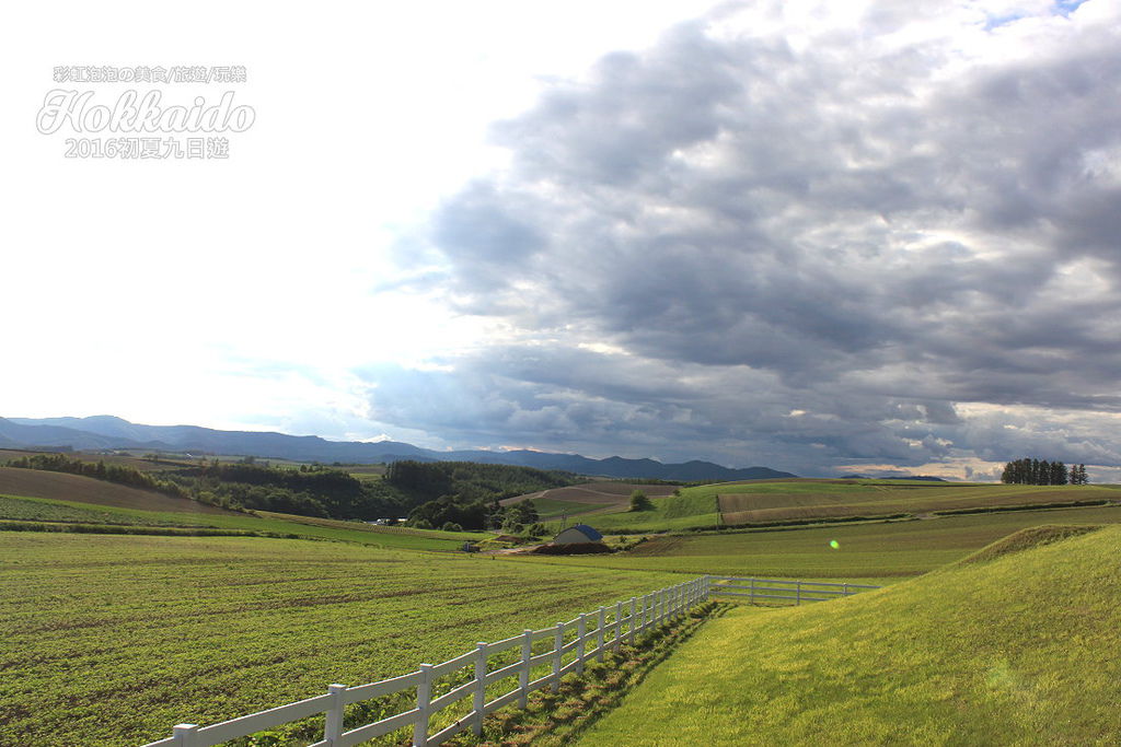
[[[849,599],[740,608],[578,744],[1118,744],[1119,551],[1111,526]]]

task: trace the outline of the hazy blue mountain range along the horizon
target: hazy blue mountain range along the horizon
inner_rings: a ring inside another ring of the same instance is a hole
[[[252,456],[293,461],[379,464],[420,461],[480,461],[520,465],[538,469],[563,469],[581,475],[677,480],[736,480],[795,477],[768,467],[733,469],[711,461],[666,465],[654,459],[609,457],[591,459],[578,454],[513,451],[433,451],[399,441],[328,441],[318,436],[287,436],[258,431],[231,431],[198,426],[141,426],[113,415],[90,418],[0,418],[0,445],[50,447],[74,450],[138,449],[187,454]]]

